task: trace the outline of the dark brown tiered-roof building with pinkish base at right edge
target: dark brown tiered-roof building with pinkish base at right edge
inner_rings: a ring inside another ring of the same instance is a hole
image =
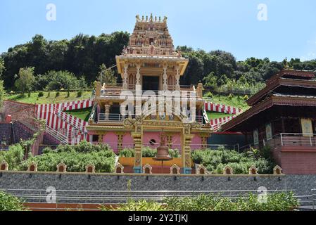
[[[284,69],[248,105],[252,107],[222,125],[222,131],[243,132],[254,148],[269,146],[285,174],[315,174],[315,73]]]

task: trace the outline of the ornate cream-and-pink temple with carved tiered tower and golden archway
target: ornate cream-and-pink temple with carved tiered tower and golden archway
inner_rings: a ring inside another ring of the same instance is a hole
[[[108,143],[115,153],[134,148],[134,172],[141,173],[141,149],[160,146],[163,132],[168,148],[181,154],[182,173],[191,173],[191,150],[206,148],[212,129],[203,117],[203,85],[179,84],[188,62],[174,49],[167,18],[137,15],[129,45],[116,56],[122,84],[95,82],[86,127],[93,142]]]

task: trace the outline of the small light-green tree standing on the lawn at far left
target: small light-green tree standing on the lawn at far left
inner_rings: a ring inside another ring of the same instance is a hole
[[[24,96],[25,92],[30,92],[35,81],[34,68],[20,68],[19,74],[15,75],[19,77],[15,80],[15,87],[18,91],[22,91]]]

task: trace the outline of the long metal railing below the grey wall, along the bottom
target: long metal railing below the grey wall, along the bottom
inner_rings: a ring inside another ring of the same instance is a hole
[[[44,189],[1,189],[22,198],[27,203],[47,203],[49,192]],[[267,193],[291,192],[293,190],[267,190]],[[218,195],[215,198],[246,198],[250,193],[260,194],[258,190],[229,190],[229,191],[75,191],[57,190],[56,203],[126,203],[127,200],[151,200],[162,202],[165,198],[196,197],[197,195]]]

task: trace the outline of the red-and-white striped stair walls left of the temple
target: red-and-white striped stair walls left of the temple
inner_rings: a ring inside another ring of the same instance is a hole
[[[46,125],[65,136],[68,136],[71,143],[72,129],[79,129],[80,140],[84,140],[85,127],[87,122],[80,118],[74,117],[63,111],[79,110],[82,108],[90,108],[94,104],[91,100],[72,101],[68,103],[43,104],[36,105],[37,118],[46,120]],[[79,137],[78,137],[79,139]],[[92,141],[91,135],[87,135],[87,141]]]

